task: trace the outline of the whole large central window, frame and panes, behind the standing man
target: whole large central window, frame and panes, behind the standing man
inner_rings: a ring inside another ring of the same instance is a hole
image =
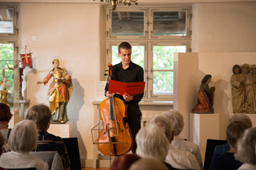
[[[144,69],[143,100],[173,100],[173,53],[190,52],[190,6],[106,8],[106,64],[121,62],[118,45],[132,45],[132,62]]]

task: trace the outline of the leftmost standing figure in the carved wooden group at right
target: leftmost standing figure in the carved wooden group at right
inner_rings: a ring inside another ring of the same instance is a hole
[[[232,86],[233,113],[242,113],[242,104],[245,102],[245,76],[241,74],[241,67],[238,65],[233,66],[232,70],[230,83]]]

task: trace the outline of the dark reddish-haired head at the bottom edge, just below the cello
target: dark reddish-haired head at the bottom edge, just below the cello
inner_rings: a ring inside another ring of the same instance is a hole
[[[128,170],[130,166],[139,159],[141,159],[141,157],[136,154],[120,155],[113,160],[111,170]]]

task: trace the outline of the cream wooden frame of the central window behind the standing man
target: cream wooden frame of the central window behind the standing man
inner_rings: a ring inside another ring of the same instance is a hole
[[[118,46],[123,41],[128,41],[132,46],[144,45],[144,80],[145,91],[143,101],[173,101],[173,95],[150,95],[153,92],[153,72],[150,68],[153,68],[153,49],[154,45],[163,46],[186,46],[186,53],[191,52],[191,7],[190,5],[184,6],[118,6],[115,11],[145,11],[144,30],[145,36],[112,36],[111,32],[111,6],[106,6],[106,70],[107,64],[112,62],[111,58],[111,46]],[[185,11],[186,12],[186,36],[157,36],[151,37],[147,32],[153,32],[153,15],[154,11]],[[153,45],[153,46],[152,46]],[[175,83],[173,83],[175,84]],[[175,91],[173,91],[174,93]]]

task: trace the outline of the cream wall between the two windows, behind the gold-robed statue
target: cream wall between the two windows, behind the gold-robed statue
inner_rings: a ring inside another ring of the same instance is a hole
[[[73,135],[79,140],[81,159],[93,158],[94,84],[100,79],[100,23],[102,7],[89,4],[21,3],[20,48],[33,53],[33,70],[24,79],[30,105],[47,104],[50,83],[37,85],[53,68],[53,57],[62,58],[62,67],[72,75],[74,92],[67,104],[73,121]],[[37,35],[37,42],[31,36]],[[51,81],[51,80],[50,80]]]

